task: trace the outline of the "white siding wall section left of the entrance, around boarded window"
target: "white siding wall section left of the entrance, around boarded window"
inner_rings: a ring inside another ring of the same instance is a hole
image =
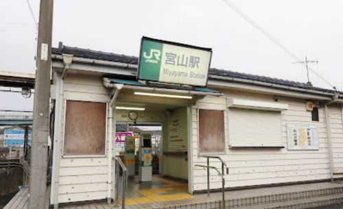
[[[109,102],[102,78],[95,75],[68,74],[64,80],[64,98],[81,101]],[[65,104],[62,107],[64,123]],[[63,124],[62,124],[63,127]],[[108,130],[108,128],[107,128]],[[61,136],[64,136],[62,130]],[[108,147],[108,134],[106,147]],[[108,148],[105,157],[62,157],[59,168],[58,203],[104,199],[107,196]]]

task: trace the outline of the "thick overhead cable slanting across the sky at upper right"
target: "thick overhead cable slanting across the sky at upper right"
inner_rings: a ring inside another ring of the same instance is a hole
[[[265,36],[266,38],[268,38],[270,41],[272,41],[277,47],[279,47],[280,49],[282,49],[285,53],[287,53],[288,56],[290,56],[291,58],[293,58],[294,60],[296,60],[296,62],[301,62],[300,58],[298,58],[298,56],[296,56],[292,51],[290,51],[287,47],[285,47],[285,45],[283,45],[279,40],[277,40],[276,38],[274,38],[272,35],[270,35],[265,29],[263,29],[263,27],[259,26],[255,21],[253,21],[247,14],[245,14],[243,11],[241,11],[239,8],[237,8],[237,6],[232,3],[230,0],[223,0],[224,3],[226,3],[226,5],[228,5],[231,9],[233,9],[235,12],[237,12],[237,14],[239,14],[239,16],[241,16],[244,20],[246,20],[248,23],[250,23],[250,25],[252,25],[253,27],[255,27],[255,29],[257,29],[261,34],[263,34],[263,36]],[[311,67],[308,68],[312,73],[314,73],[315,75],[317,75],[318,77],[320,77],[320,79],[322,79],[325,83],[327,83],[329,86],[331,86],[331,88],[335,89],[335,86],[333,86],[332,84],[330,84],[327,79],[324,79],[324,77],[322,77],[321,75],[319,75],[319,73],[317,73],[316,71],[314,71],[314,69],[311,69]]]

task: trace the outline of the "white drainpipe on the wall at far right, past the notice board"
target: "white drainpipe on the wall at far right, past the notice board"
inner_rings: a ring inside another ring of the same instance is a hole
[[[333,172],[334,172],[334,167],[333,167],[333,149],[332,149],[332,140],[331,140],[331,125],[330,125],[330,116],[329,116],[329,110],[327,106],[333,102],[335,102],[336,99],[340,96],[339,93],[335,93],[333,95],[333,99],[327,103],[324,104],[325,108],[325,121],[327,122],[327,143],[329,145],[329,159],[330,159],[330,178],[331,182],[333,182]]]

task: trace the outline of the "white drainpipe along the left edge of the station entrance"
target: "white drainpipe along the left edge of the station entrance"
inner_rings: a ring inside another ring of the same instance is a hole
[[[114,132],[113,132],[113,106],[115,104],[115,101],[117,100],[117,97],[119,95],[119,91],[123,87],[123,84],[116,84],[114,89],[113,97],[110,101],[110,107],[108,112],[108,179],[107,179],[107,203],[110,204],[112,201],[111,190],[113,188],[112,183],[115,182],[112,178],[112,162],[113,162],[113,143],[115,140]],[[114,171],[113,171],[114,173]],[[112,181],[113,180],[113,181]]]

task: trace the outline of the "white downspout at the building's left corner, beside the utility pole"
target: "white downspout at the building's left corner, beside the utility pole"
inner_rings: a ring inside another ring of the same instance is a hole
[[[64,70],[62,75],[58,75],[56,78],[56,115],[54,125],[54,150],[53,150],[53,162],[52,162],[52,176],[51,176],[51,204],[54,204],[54,209],[58,209],[58,187],[60,186],[60,156],[62,147],[62,107],[63,107],[63,90],[64,90],[64,77],[67,75],[67,71],[71,65],[73,56],[63,54]],[[65,108],[65,107],[64,107]]]

